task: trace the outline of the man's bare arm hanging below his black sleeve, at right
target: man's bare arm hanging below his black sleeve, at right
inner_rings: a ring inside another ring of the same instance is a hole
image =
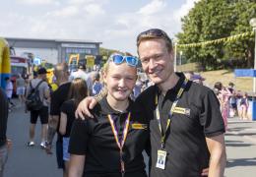
[[[206,138],[207,147],[210,151],[209,177],[223,177],[226,163],[224,146],[224,134]]]

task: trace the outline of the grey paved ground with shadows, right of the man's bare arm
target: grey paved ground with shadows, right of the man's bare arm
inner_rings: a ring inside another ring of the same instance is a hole
[[[226,177],[256,176],[256,121],[228,119]]]

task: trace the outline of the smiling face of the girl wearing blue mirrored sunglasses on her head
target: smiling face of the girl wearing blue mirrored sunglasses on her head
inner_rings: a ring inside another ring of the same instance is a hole
[[[108,69],[103,73],[103,80],[108,95],[117,101],[126,100],[134,89],[137,80],[137,69],[125,62],[114,64],[109,62]]]

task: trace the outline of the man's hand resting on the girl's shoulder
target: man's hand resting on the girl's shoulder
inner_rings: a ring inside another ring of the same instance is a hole
[[[88,96],[84,98],[78,105],[76,110],[76,118],[81,118],[85,120],[85,115],[94,118],[91,114],[90,109],[93,109],[96,106],[96,98],[94,96]]]

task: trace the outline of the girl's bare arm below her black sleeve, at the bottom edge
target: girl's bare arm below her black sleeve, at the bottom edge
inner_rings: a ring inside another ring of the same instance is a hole
[[[86,155],[70,154],[69,177],[82,177]]]

